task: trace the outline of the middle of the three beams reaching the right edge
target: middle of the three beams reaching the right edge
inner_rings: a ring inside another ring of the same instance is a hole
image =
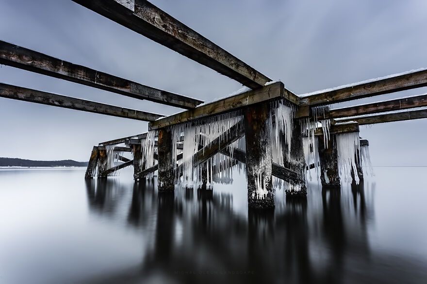
[[[423,106],[427,106],[427,94],[384,102],[377,102],[372,104],[355,105],[350,107],[331,109],[328,112],[325,112],[325,117],[331,119],[346,118],[352,116],[404,110]]]

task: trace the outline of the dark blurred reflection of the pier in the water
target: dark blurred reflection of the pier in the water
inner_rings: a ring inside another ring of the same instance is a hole
[[[249,210],[247,218],[233,211],[230,193],[158,194],[155,184],[135,182],[128,204],[126,222],[147,237],[140,265],[91,283],[393,282],[382,273],[386,257],[371,255],[367,226],[374,195],[363,184],[341,190],[312,185],[308,199],[287,198],[275,210]],[[93,212],[111,217],[119,210],[117,191],[126,189],[116,179],[87,181],[86,187]]]

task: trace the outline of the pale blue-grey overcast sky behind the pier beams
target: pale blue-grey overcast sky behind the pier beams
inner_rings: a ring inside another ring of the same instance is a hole
[[[425,0],[152,3],[296,94],[427,67]],[[242,87],[71,0],[0,0],[0,40],[203,101]],[[0,82],[163,115],[180,110],[4,65]],[[426,126],[361,126],[361,136],[374,165],[427,165]],[[93,145],[147,128],[144,121],[0,98],[0,157],[87,161]]]

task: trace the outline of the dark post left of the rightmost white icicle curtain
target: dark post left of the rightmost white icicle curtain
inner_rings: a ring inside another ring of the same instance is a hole
[[[341,187],[340,175],[338,173],[338,151],[336,135],[330,135],[328,148],[325,149],[323,136],[318,137],[320,158],[320,180],[322,186]]]

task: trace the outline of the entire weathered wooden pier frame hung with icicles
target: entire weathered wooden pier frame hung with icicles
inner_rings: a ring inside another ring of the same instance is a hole
[[[74,2],[250,89],[204,103],[0,41],[0,64],[184,109],[178,114],[163,116],[0,83],[0,97],[149,122],[149,133],[94,146],[86,178],[107,178],[116,170],[132,165],[135,180],[145,179],[158,171],[159,193],[171,192],[177,186],[177,181],[190,179],[185,172],[190,164],[190,171],[197,169],[202,176],[196,178],[200,181],[199,186],[206,188],[213,181],[214,168],[224,171],[224,164],[220,164],[223,160],[213,159],[219,155],[230,161],[225,168],[237,165],[245,167],[249,208],[274,208],[275,182],[279,180],[289,196],[305,196],[308,169],[317,168],[323,186],[339,188],[343,182],[340,178],[339,143],[344,135],[356,137],[356,148],[368,146],[367,140],[359,139],[359,125],[427,118],[426,109],[417,109],[427,106],[427,95],[343,108],[328,107],[340,102],[425,87],[427,70],[296,95],[287,90],[283,83],[272,82],[148,1]],[[291,115],[291,122],[283,111]],[[224,133],[213,136],[212,141],[207,143],[210,138],[201,131],[201,126],[212,121],[230,121],[226,117],[237,118],[237,122],[230,124]],[[280,123],[288,123],[285,130]],[[185,131],[177,132],[181,126],[183,129],[193,127],[191,129],[195,129],[195,136],[190,137],[188,133],[184,134]],[[291,137],[291,140],[287,140],[287,137]],[[185,146],[189,143],[188,139],[199,141],[190,155]],[[234,146],[239,141],[245,142],[244,148]],[[353,182],[363,179],[359,150],[355,149],[354,165],[348,169]],[[122,157],[120,152],[131,152],[133,159]],[[307,157],[313,161],[310,162]],[[109,159],[122,163],[112,166]],[[188,186],[190,183],[184,184]]]

